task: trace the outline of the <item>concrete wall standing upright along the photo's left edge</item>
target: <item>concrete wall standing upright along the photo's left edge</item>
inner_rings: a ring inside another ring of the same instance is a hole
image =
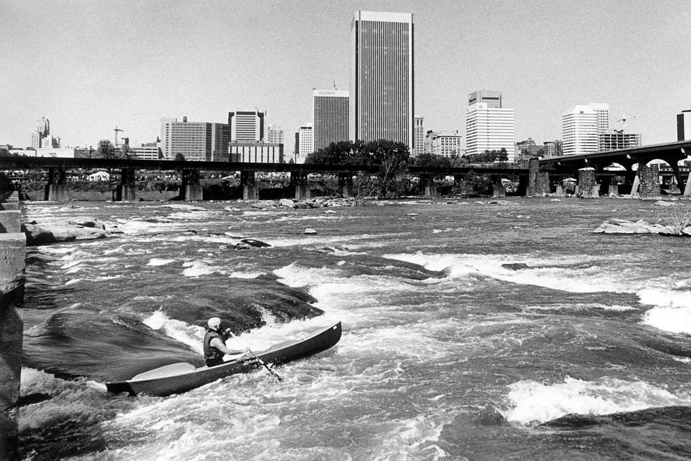
[[[0,460],[19,459],[17,401],[22,372],[27,239],[14,192],[0,203]]]

